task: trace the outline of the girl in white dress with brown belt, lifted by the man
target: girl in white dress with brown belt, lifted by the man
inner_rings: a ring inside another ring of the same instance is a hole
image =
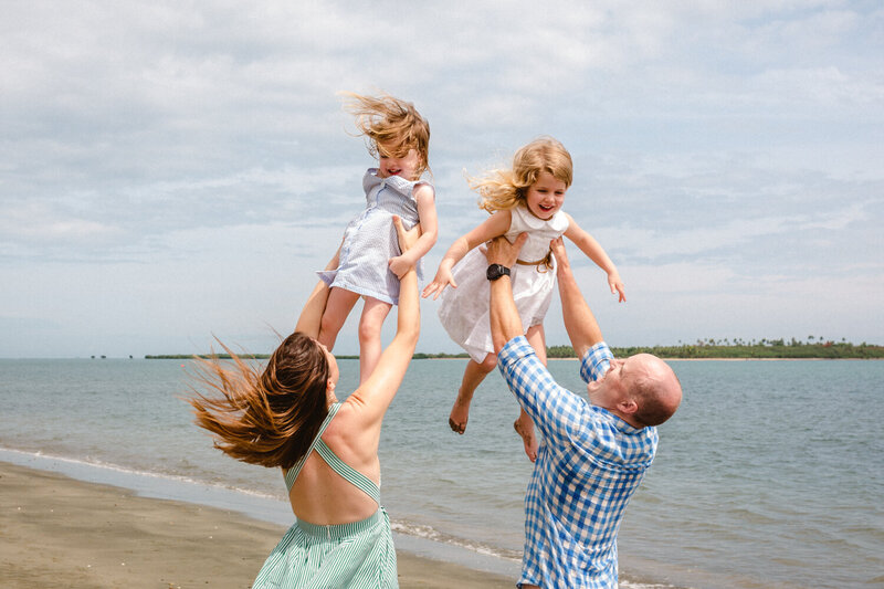
[[[488,263],[478,245],[499,235],[506,235],[512,242],[519,233],[527,232],[528,240],[519,252],[519,260],[509,269],[513,297],[522,324],[527,328],[525,335],[544,364],[543,322],[556,281],[556,261],[549,250],[551,240],[562,234],[570,239],[608,273],[611,293],[618,294],[620,302],[625,301],[623,283],[611,259],[589,233],[561,211],[571,179],[568,150],[556,139],[541,137],[516,151],[512,169],[491,170],[470,180],[481,196],[480,207],[492,214],[449,248],[433,282],[423,290],[424,297],[441,295],[439,318],[451,338],[471,357],[449,417],[449,425],[457,433],[466,431],[470,402],[476,387],[497,365],[488,323]],[[534,462],[537,440],[530,418],[522,411],[513,425],[523,439],[525,453]]]

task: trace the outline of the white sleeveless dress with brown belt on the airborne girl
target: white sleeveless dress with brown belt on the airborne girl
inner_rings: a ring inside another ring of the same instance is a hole
[[[530,263],[548,260],[548,264],[517,263],[511,269],[513,298],[527,332],[528,327],[544,322],[552,301],[556,263],[549,254],[549,242],[565,233],[568,218],[558,211],[545,221],[523,206],[512,209],[512,217],[506,239],[513,242],[519,233],[528,233],[528,240],[519,252],[519,261]],[[494,353],[488,308],[491,287],[485,277],[487,267],[484,246],[470,250],[452,269],[457,288],[445,288],[439,306],[439,320],[449,336],[477,362]]]

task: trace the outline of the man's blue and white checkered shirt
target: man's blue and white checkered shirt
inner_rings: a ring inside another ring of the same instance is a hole
[[[586,382],[613,358],[604,343],[581,360]],[[656,452],[656,428],[638,430],[559,387],[524,336],[497,365],[543,434],[525,495],[525,554],[518,585],[617,587],[617,530]]]

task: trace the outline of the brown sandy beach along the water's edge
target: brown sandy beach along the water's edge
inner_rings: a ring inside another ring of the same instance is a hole
[[[248,588],[285,528],[234,512],[0,462],[7,589]],[[506,579],[399,553],[410,587],[503,589]]]

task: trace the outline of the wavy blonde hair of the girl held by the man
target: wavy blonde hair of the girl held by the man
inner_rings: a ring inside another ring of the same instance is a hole
[[[467,178],[470,188],[480,194],[478,206],[488,212],[508,210],[525,201],[528,188],[540,172],[565,182],[573,180],[571,155],[552,137],[538,137],[513,156],[511,169],[494,169],[478,178]]]

